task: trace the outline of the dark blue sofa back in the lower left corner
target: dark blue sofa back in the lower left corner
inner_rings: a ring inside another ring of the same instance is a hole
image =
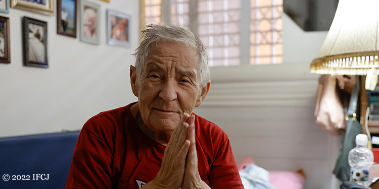
[[[0,188],[64,188],[79,133],[0,138]]]

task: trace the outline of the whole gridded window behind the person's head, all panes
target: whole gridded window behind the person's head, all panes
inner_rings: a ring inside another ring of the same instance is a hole
[[[193,31],[210,66],[280,64],[282,12],[282,0],[145,0],[146,24]]]

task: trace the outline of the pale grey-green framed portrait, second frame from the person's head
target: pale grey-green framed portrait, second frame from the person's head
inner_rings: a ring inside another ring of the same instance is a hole
[[[80,40],[100,44],[100,5],[80,1]]]

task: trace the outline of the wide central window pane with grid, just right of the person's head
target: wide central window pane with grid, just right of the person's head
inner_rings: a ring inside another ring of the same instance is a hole
[[[240,65],[239,1],[198,1],[198,37],[208,50],[210,66]]]

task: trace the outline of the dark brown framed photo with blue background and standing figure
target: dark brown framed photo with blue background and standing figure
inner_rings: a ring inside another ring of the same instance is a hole
[[[57,0],[57,33],[76,38],[77,0]]]

